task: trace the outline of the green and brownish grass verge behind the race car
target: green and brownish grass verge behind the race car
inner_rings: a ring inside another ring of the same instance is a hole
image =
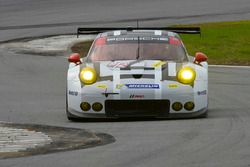
[[[203,52],[208,56],[209,64],[250,65],[250,20],[184,26],[199,26],[202,31],[201,37],[181,35],[190,55]],[[71,49],[86,56],[91,43],[80,42]]]

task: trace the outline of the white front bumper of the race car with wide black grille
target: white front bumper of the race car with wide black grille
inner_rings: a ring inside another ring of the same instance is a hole
[[[132,81],[126,80],[126,83],[129,82]],[[67,91],[68,113],[72,114],[71,117],[87,118],[196,117],[196,115],[199,116],[199,111],[207,107],[207,88],[201,81],[197,81],[195,85],[192,87],[175,81],[164,81],[157,89],[132,89],[124,84],[118,88],[117,85],[114,87],[112,82],[79,87],[79,90],[72,87]],[[200,88],[199,85],[205,86]],[[194,103],[193,109],[185,108],[188,102]],[[91,107],[85,110],[82,108],[82,103],[88,103]],[[101,104],[102,109],[94,110],[95,103]],[[181,109],[178,111],[174,109],[174,103],[181,103]]]

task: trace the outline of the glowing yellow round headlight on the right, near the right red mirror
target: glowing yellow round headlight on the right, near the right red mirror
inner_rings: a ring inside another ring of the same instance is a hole
[[[183,67],[177,73],[177,80],[183,84],[192,84],[195,80],[196,73],[191,67]]]

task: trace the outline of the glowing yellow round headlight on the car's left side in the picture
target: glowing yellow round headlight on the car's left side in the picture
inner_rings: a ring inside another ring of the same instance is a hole
[[[85,67],[80,72],[80,80],[84,84],[93,84],[96,82],[96,71],[93,68]]]

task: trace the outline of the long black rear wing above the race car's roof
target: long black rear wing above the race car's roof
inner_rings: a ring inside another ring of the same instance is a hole
[[[116,31],[116,30],[165,30],[172,31],[177,34],[200,34],[200,27],[127,27],[127,28],[118,28],[118,27],[106,27],[106,28],[97,28],[97,27],[89,27],[89,28],[78,28],[77,29],[77,38],[79,35],[90,35],[90,34],[99,34],[106,31]]]

